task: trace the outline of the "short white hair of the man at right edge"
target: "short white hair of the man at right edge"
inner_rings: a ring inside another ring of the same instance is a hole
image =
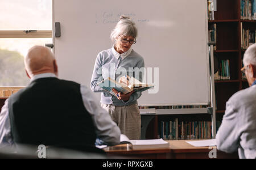
[[[256,66],[256,44],[250,45],[243,55],[244,65],[254,65]]]

